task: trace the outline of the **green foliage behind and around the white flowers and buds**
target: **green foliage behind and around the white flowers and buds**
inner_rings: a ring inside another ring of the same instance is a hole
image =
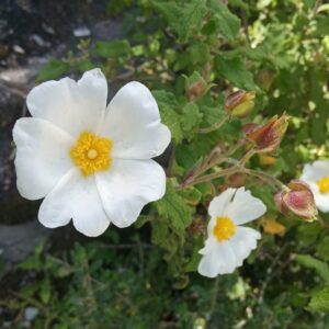
[[[65,248],[39,246],[18,269],[20,288],[0,302],[4,328],[329,328],[329,216],[286,219],[271,188],[245,177],[173,188],[218,143],[234,145],[243,123],[283,112],[290,128],[277,155],[253,158],[250,167],[287,182],[303,163],[328,158],[329,4],[113,0],[105,10],[123,20],[124,37],[82,38],[45,65],[37,81],[100,67],[110,89],[147,84],[172,132],[167,158],[159,159],[167,194],[135,228],[112,227]],[[225,97],[236,89],[256,91],[252,114],[197,134],[224,115]],[[268,205],[256,223],[263,238],[235,274],[201,277],[207,203],[241,182]]]

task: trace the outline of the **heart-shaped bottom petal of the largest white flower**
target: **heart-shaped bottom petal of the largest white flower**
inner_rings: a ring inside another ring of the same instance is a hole
[[[88,237],[97,237],[110,225],[94,182],[71,169],[43,201],[38,220],[46,227],[58,227],[72,218],[77,230]]]

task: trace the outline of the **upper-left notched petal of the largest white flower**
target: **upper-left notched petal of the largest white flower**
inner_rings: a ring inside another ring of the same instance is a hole
[[[87,71],[76,82],[65,78],[33,88],[26,103],[31,114],[44,118],[73,137],[95,132],[104,118],[107,84],[100,69]]]

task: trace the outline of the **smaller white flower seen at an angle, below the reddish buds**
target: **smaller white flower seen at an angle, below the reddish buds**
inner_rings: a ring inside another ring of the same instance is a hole
[[[227,189],[213,198],[208,213],[208,238],[198,252],[203,258],[198,273],[215,277],[232,273],[257,247],[260,232],[241,225],[251,222],[266,212],[261,200],[253,197],[245,188]]]

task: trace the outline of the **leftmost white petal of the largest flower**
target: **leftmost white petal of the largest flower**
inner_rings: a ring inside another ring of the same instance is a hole
[[[47,121],[24,117],[13,128],[18,189],[29,200],[44,197],[72,168],[73,139]]]

